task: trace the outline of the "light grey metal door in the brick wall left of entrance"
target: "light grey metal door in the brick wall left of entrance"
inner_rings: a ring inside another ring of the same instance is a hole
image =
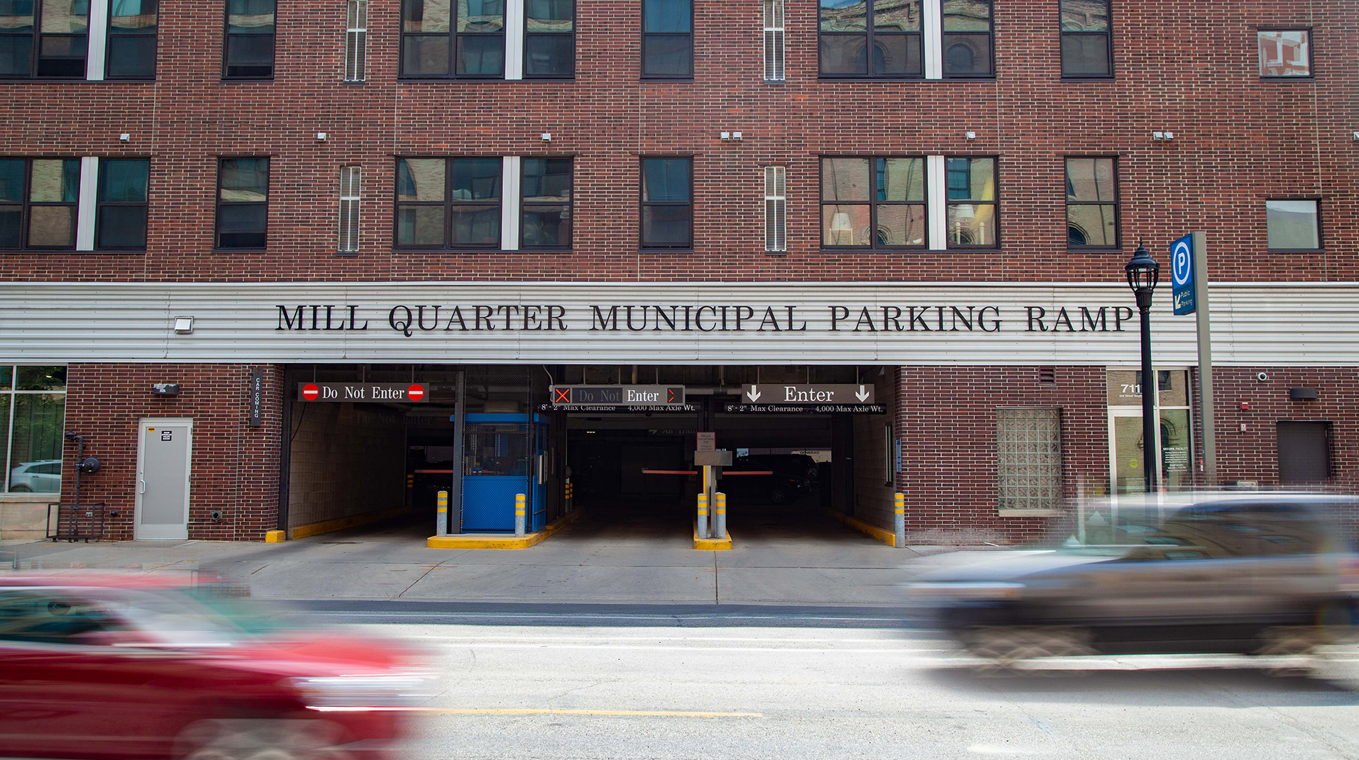
[[[189,537],[193,419],[144,418],[137,434],[135,537]]]

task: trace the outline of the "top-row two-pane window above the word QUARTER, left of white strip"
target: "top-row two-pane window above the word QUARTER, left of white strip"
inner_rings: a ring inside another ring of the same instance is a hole
[[[504,0],[404,0],[401,76],[503,77],[504,14]]]

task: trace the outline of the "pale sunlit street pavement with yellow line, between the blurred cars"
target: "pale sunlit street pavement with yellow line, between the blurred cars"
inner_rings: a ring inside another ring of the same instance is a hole
[[[610,611],[632,626],[559,612],[556,624],[499,611],[487,624],[370,626],[429,653],[436,687],[410,756],[1359,757],[1354,650],[1309,674],[1265,668],[1299,661],[1201,656],[993,670],[927,632],[809,624],[811,609],[700,627],[646,624],[648,608]]]

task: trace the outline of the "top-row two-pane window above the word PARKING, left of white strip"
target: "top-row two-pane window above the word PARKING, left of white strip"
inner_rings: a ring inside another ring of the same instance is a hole
[[[924,76],[921,0],[821,0],[819,5],[821,76]]]

